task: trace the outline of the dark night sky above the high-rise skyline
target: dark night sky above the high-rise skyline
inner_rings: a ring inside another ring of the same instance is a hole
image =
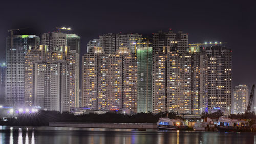
[[[227,42],[233,50],[233,87],[256,83],[256,2],[246,1],[2,1],[0,2],[0,61],[5,61],[8,29],[15,34],[56,31],[71,27],[81,37],[82,55],[89,40],[104,33],[159,30],[189,33],[189,43]],[[66,31],[63,31],[66,32]]]

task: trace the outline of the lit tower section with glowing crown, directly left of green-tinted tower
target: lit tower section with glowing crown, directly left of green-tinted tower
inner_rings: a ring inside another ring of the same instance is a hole
[[[109,58],[110,109],[125,113],[137,112],[137,59],[127,48],[119,50]]]

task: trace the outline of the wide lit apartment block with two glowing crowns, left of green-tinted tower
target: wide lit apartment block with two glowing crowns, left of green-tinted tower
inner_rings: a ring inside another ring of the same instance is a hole
[[[137,112],[137,60],[127,48],[105,54],[101,47],[82,58],[82,106]]]

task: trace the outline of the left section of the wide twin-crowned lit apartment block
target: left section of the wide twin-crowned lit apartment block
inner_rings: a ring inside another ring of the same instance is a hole
[[[95,47],[94,52],[89,52],[82,57],[82,106],[92,110],[107,109],[106,93],[103,94],[103,92],[106,92],[108,83],[105,82],[104,86],[99,86],[99,83],[106,81],[106,74],[104,74],[105,78],[102,78],[101,82],[98,78],[107,66],[106,62],[100,65],[101,62],[99,61],[102,59],[104,59],[104,54],[101,47]]]

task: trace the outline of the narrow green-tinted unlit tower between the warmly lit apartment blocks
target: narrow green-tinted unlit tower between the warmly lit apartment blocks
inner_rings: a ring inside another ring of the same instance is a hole
[[[137,49],[137,112],[152,112],[152,47]]]

